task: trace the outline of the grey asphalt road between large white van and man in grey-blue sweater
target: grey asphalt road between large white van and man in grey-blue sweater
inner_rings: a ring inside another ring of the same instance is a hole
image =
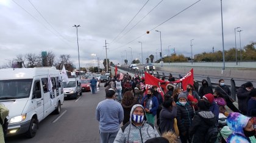
[[[60,115],[49,115],[40,122],[34,138],[27,139],[24,135],[12,136],[5,142],[99,142],[99,124],[95,118],[95,110],[98,102],[104,99],[102,84],[100,91],[95,95],[84,92],[77,101],[66,100]],[[59,116],[61,117],[56,120]]]

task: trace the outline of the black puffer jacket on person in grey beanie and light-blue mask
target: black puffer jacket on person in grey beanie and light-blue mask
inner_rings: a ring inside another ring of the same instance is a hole
[[[194,117],[194,110],[190,106],[190,104],[187,104],[185,106],[181,105],[179,102],[176,102],[177,104],[177,125],[179,128],[179,132],[183,133],[190,128],[192,119]]]

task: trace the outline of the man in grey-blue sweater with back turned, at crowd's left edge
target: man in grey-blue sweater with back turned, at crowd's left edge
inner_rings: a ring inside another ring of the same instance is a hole
[[[101,143],[114,142],[119,130],[119,124],[124,119],[123,107],[114,101],[115,94],[115,90],[108,89],[106,92],[107,99],[99,102],[96,107],[96,119],[99,121]]]

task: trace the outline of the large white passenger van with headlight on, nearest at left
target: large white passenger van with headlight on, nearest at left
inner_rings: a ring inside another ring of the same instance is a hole
[[[40,121],[52,111],[60,113],[64,94],[59,78],[60,71],[55,67],[0,69],[0,102],[9,108],[7,136],[25,133],[33,138]]]

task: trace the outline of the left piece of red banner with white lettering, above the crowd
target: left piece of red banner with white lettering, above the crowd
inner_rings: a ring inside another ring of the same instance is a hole
[[[157,91],[163,97],[163,95],[165,94],[163,90],[165,90],[166,85],[169,84],[169,81],[162,81],[161,79],[155,78],[154,76],[145,72],[145,84],[146,84],[146,90],[148,90],[148,88],[151,88],[152,86],[156,85],[158,87]],[[162,87],[162,88],[160,88],[160,87]]]

